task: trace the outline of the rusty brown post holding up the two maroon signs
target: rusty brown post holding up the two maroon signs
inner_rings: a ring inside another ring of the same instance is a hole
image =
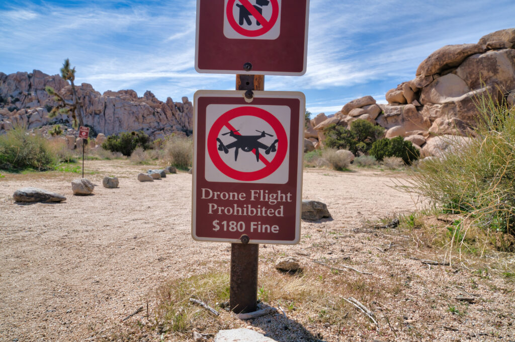
[[[262,91],[264,87],[264,76],[236,75],[236,90]],[[259,244],[248,242],[248,236],[244,235],[241,244],[231,244],[229,305],[235,313],[256,311],[258,302]]]

